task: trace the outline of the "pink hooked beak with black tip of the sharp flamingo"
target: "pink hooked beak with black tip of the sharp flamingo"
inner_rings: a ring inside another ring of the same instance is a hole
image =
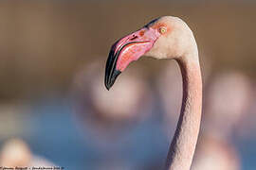
[[[148,52],[156,40],[155,30],[143,27],[115,42],[109,52],[105,68],[105,87],[109,90],[130,62]]]

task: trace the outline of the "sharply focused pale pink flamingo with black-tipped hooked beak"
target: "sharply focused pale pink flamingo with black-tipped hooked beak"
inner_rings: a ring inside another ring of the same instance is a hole
[[[192,30],[181,19],[164,16],[121,38],[113,44],[107,59],[106,88],[109,90],[128,64],[142,55],[175,59],[179,64],[183,80],[182,107],[165,167],[188,170],[197,142],[202,108],[201,71]]]

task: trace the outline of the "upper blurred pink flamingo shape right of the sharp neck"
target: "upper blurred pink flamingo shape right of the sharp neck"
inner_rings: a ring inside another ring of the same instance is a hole
[[[214,76],[206,96],[204,129],[229,139],[235,127],[247,117],[247,107],[252,98],[250,86],[248,77],[239,71]]]

